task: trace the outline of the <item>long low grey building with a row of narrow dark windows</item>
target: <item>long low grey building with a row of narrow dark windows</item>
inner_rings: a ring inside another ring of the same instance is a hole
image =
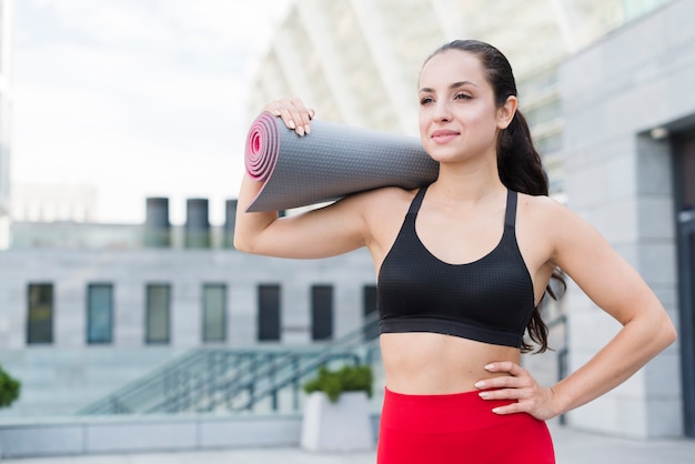
[[[326,343],[376,311],[365,250],[278,260],[231,246],[236,202],[205,199],[171,226],[13,222],[0,252],[0,365],[22,381],[6,416],[73,414],[192,349]]]

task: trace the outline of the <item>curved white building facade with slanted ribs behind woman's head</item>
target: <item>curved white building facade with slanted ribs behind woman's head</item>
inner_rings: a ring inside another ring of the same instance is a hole
[[[248,119],[296,95],[318,118],[416,137],[425,58],[446,41],[481,39],[512,62],[551,191],[562,196],[560,62],[668,1],[295,0],[258,63]]]

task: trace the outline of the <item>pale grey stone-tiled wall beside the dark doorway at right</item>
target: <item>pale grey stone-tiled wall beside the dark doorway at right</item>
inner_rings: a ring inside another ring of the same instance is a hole
[[[672,155],[651,130],[695,114],[695,2],[675,1],[561,67],[567,204],[594,224],[678,320]],[[620,329],[581,291],[567,294],[570,363]],[[676,344],[614,392],[570,414],[582,428],[634,437],[683,432]]]

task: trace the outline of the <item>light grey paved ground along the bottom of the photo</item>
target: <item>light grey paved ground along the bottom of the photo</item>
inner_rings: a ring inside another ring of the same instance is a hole
[[[634,441],[551,427],[557,464],[694,464],[695,440]],[[299,448],[231,450],[4,460],[3,464],[374,464],[369,453],[308,453]],[[424,464],[424,463],[423,463]],[[504,463],[507,464],[507,463]]]

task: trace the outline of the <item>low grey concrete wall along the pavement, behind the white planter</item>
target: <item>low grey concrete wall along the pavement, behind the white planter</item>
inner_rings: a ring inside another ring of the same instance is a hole
[[[374,441],[379,417],[370,417]],[[0,457],[299,446],[301,431],[301,414],[3,421]]]

